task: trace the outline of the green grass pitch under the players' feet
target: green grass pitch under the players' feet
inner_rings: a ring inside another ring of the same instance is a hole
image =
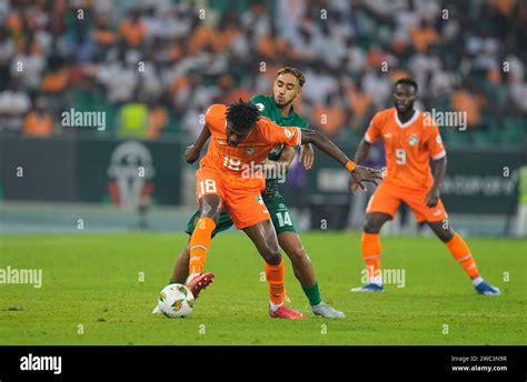
[[[240,232],[212,241],[207,270],[216,282],[182,320],[150,311],[186,235],[1,235],[0,268],[42,269],[43,282],[0,284],[0,344],[526,344],[526,241],[467,240],[499,298],[476,294],[435,239],[382,238],[382,267],[404,269],[406,285],[380,294],[349,291],[364,268],[359,235],[305,233],[302,241],[322,299],[346,319],[312,315],[289,261],[290,305],[309,320],[270,319],[262,260]]]

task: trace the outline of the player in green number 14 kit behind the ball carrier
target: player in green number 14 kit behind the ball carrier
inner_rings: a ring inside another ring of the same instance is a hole
[[[308,122],[298,115],[292,102],[301,93],[305,83],[304,73],[295,68],[282,68],[277,72],[274,83],[272,96],[255,96],[250,102],[258,105],[264,117],[269,118],[275,123],[282,127],[309,128]],[[208,131],[208,130],[207,130]],[[200,135],[193,145],[186,151],[187,162],[193,163],[199,159],[201,149],[208,140],[208,135]],[[268,164],[274,163],[277,167],[275,173],[280,173],[280,169],[289,168],[295,158],[295,149],[290,147],[278,147],[268,157]],[[307,169],[312,167],[314,151],[312,147],[304,145],[301,148],[300,159]],[[344,318],[345,314],[322,301],[320,288],[315,277],[315,269],[307,255],[300,237],[295,229],[286,201],[279,192],[279,179],[267,179],[266,190],[261,197],[272,219],[272,224],[278,237],[280,248],[291,260],[295,277],[300,282],[304,293],[309,300],[309,304],[315,314],[324,318]],[[187,233],[190,235],[195,230],[195,223],[199,219],[197,211],[189,220]],[[222,212],[212,237],[232,227],[227,212]],[[187,243],[176,260],[171,282],[183,284],[188,277],[190,259],[190,249]]]

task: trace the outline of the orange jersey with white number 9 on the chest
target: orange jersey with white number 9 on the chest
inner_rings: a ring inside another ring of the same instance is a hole
[[[365,139],[369,143],[382,139],[387,163],[384,182],[391,185],[429,189],[434,184],[430,158],[446,155],[439,128],[431,117],[418,110],[406,123],[399,121],[396,108],[379,111]]]

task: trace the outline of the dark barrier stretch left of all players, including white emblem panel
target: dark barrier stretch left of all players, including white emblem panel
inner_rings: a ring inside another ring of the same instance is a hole
[[[0,138],[7,200],[179,204],[178,142]]]

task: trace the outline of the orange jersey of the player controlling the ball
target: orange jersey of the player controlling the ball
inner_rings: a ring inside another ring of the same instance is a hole
[[[212,104],[205,114],[209,125],[211,140],[207,154],[201,159],[201,167],[220,170],[238,187],[265,187],[264,179],[246,178],[248,170],[264,161],[277,145],[299,145],[301,129],[297,127],[279,127],[267,118],[261,118],[249,135],[237,147],[227,143],[227,105]],[[237,179],[238,178],[238,179]],[[242,179],[240,182],[239,179]]]

